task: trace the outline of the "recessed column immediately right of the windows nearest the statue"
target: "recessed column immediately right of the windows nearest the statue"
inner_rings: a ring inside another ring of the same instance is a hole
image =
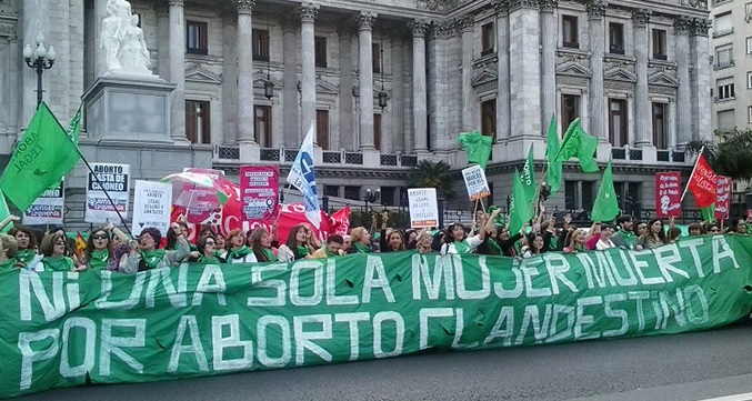
[[[222,143],[238,142],[237,22],[233,11],[222,14]]]

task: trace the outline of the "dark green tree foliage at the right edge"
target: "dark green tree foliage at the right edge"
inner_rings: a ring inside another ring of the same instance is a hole
[[[716,174],[731,177],[734,180],[752,179],[752,129],[744,131],[716,133],[714,141],[692,141],[689,150],[702,153]]]

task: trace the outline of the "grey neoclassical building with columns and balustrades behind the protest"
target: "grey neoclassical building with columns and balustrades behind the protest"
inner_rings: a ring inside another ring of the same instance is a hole
[[[22,60],[41,31],[58,54],[44,99],[62,120],[106,74],[99,32],[107,0],[0,1],[0,153],[36,107]],[[174,86],[169,136],[86,130],[90,161],[128,162],[134,178],[183,167],[283,174],[313,127],[320,193],[358,200],[381,189],[403,201],[421,159],[467,166],[459,132],[494,137],[495,203],[533,146],[543,167],[552,116],[581,117],[613,159],[625,208],[653,209],[653,174],[681,170],[683,147],[711,134],[708,6],[616,0],[133,0],[151,70]],[[540,170],[539,170],[540,173]],[[69,178],[80,218],[82,169]],[[565,169],[559,209],[589,210],[600,177]],[[458,176],[458,189],[463,192]],[[461,204],[464,207],[464,203]]]

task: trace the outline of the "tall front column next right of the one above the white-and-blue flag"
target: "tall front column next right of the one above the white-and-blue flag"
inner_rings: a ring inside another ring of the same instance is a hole
[[[373,144],[373,51],[372,29],[377,13],[363,11],[359,19],[358,70],[360,71],[360,149],[375,149]]]

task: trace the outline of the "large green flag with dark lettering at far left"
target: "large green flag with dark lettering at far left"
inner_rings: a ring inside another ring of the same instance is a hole
[[[42,102],[2,172],[0,190],[17,208],[27,210],[73,169],[79,157],[60,122]]]

